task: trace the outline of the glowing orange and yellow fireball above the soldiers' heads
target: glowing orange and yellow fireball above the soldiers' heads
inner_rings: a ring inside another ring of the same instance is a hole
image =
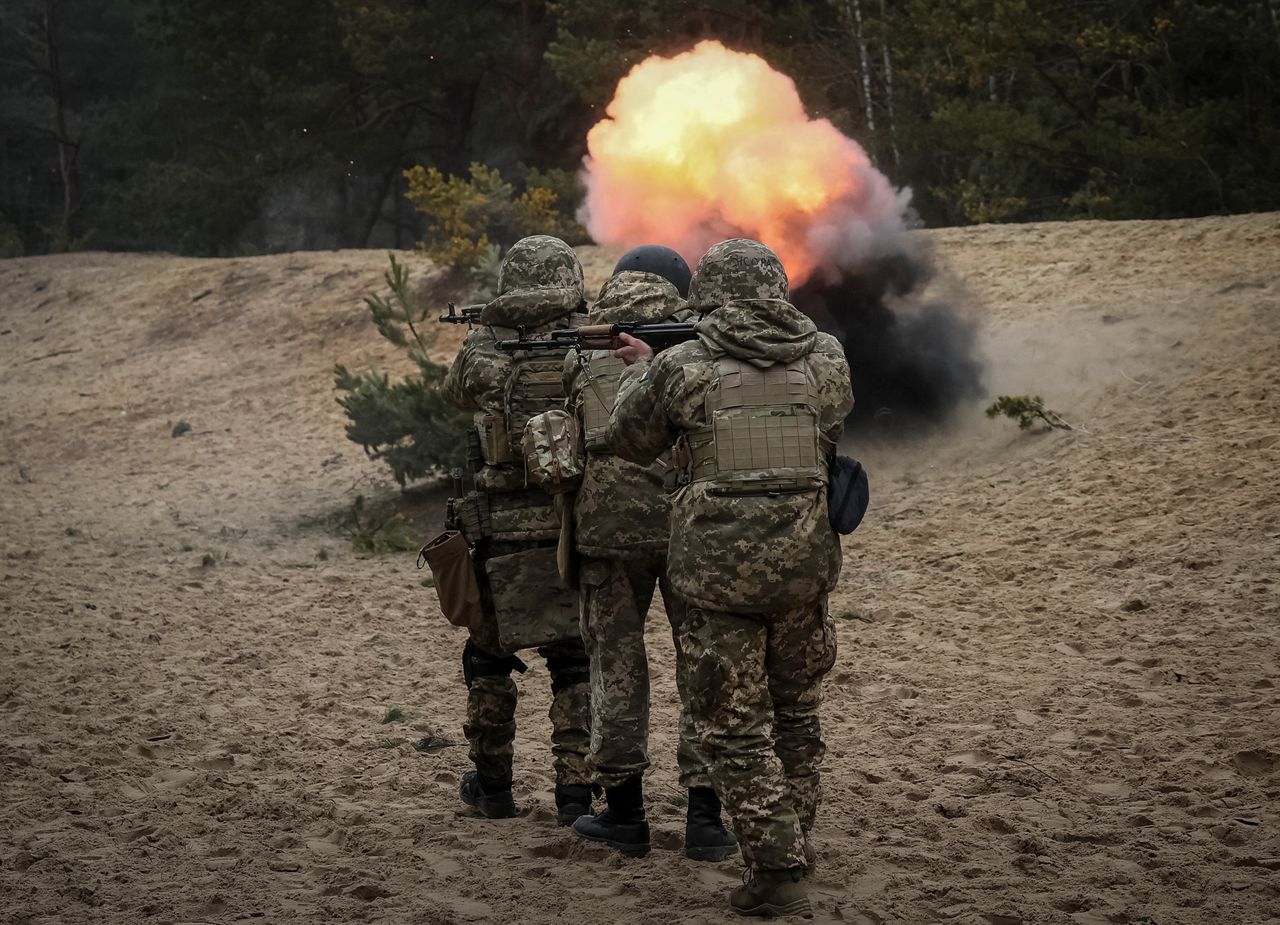
[[[607,111],[586,137],[580,216],[602,244],[666,244],[692,266],[718,241],[755,238],[799,285],[902,230],[909,193],[756,55],[707,41],[648,58]]]

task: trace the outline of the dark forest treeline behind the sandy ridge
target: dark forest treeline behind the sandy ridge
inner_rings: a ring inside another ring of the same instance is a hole
[[[618,78],[700,38],[925,224],[1280,209],[1280,0],[5,0],[0,256],[406,247],[412,168],[572,216]]]

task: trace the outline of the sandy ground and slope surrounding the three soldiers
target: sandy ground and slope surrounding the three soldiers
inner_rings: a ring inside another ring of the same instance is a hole
[[[975,406],[852,448],[819,920],[1280,921],[1280,216],[927,237],[992,394],[1076,429]],[[737,865],[681,853],[659,614],[648,858],[556,826],[540,664],[521,816],[461,811],[462,637],[338,527],[356,494],[439,514],[333,400],[334,362],[403,368],[384,264],[0,261],[0,919],[727,919]]]

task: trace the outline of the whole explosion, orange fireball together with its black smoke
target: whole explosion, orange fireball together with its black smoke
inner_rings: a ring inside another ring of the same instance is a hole
[[[696,266],[726,238],[782,260],[791,301],[845,345],[850,423],[945,421],[982,395],[973,321],[924,302],[932,276],[895,192],[858,142],[810,119],[762,58],[700,42],[649,58],[588,134],[580,220],[602,244],[666,244]]]

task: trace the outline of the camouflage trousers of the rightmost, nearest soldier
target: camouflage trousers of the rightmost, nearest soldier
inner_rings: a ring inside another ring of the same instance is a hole
[[[765,614],[690,606],[680,644],[694,724],[744,858],[756,870],[805,866],[826,754],[822,679],[836,661],[826,599]]]

